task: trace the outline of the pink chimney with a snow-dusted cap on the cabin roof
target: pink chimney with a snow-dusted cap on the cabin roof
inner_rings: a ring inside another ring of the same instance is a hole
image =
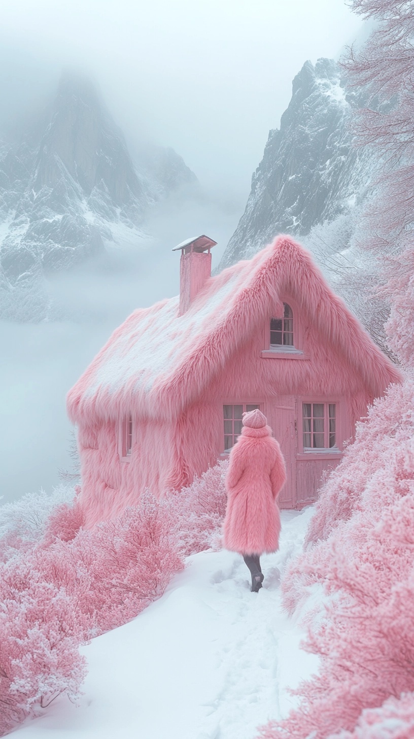
[[[186,239],[172,251],[181,249],[180,259],[180,316],[189,310],[191,302],[211,276],[210,249],[217,241],[205,234]]]

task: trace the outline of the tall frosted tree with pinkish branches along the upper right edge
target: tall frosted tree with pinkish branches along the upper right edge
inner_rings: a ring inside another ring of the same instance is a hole
[[[390,306],[388,345],[400,361],[414,361],[414,5],[402,0],[351,0],[376,21],[361,50],[343,61],[347,84],[364,89],[356,110],[359,146],[379,153],[375,194],[362,219],[360,241],[379,260],[375,299]]]

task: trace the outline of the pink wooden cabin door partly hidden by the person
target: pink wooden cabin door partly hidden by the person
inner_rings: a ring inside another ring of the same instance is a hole
[[[279,494],[279,508],[294,508],[296,505],[296,405],[293,395],[282,395],[266,403],[269,423],[274,437],[279,441],[285,457],[288,479]]]

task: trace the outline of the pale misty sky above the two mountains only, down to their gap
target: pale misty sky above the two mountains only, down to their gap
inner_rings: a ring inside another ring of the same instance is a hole
[[[268,131],[309,58],[361,27],[343,0],[0,0],[3,110],[86,70],[132,145],[172,146],[245,202]],[[10,105],[9,105],[10,103]]]

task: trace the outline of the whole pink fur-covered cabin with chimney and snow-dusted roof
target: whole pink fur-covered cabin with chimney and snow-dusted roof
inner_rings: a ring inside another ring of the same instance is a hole
[[[180,244],[180,296],[135,310],[69,391],[86,525],[191,483],[259,407],[286,460],[282,508],[316,500],[367,404],[398,369],[288,236],[211,277],[210,248]]]

